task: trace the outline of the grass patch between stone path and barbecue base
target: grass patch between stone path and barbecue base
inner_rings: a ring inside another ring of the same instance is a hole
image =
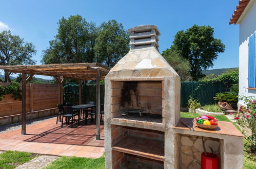
[[[82,158],[82,157],[67,157],[62,156],[46,167],[45,169],[57,169],[57,168],[72,168],[72,169],[82,169],[82,168],[95,168],[104,169],[105,168],[105,157],[100,158]]]

